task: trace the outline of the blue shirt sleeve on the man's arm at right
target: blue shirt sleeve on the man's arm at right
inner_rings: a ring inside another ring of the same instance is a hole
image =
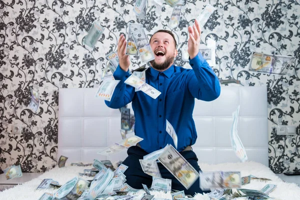
[[[199,52],[189,59],[193,70],[187,75],[187,87],[191,95],[197,99],[211,101],[220,94],[220,83],[212,68]]]

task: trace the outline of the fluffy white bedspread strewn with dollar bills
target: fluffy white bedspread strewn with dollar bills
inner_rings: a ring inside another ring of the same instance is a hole
[[[44,178],[52,178],[57,180],[60,184],[64,184],[66,181],[70,180],[74,176],[78,176],[78,172],[82,172],[85,168],[90,167],[80,167],[80,166],[68,166],[62,168],[53,168],[41,174],[38,178],[34,178],[24,184],[17,185],[13,188],[4,190],[0,192],[0,200],[37,200],[44,192],[53,193],[57,189],[44,189],[36,190],[36,187],[40,181]],[[257,163],[257,162],[244,162],[244,163],[222,163],[222,164],[205,164],[199,163],[200,168],[203,171],[241,171],[242,176],[252,174],[257,177],[265,177],[272,179],[271,181],[259,181],[251,180],[251,183],[243,185],[243,188],[257,189],[260,190],[264,185],[276,184],[277,187],[269,194],[269,196],[281,200],[299,200],[300,199],[300,187],[294,183],[283,182],[278,176],[276,176],[268,167]],[[86,179],[90,179],[86,177]],[[156,198],[169,198],[171,199],[170,193],[163,193],[157,191],[151,191]],[[140,194],[141,195],[141,194]],[[196,200],[209,200],[210,198],[207,194],[196,194],[194,197]],[[136,198],[140,199],[140,198]]]

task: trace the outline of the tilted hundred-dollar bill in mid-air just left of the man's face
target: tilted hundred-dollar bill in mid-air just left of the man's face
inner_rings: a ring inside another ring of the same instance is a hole
[[[144,29],[138,29],[131,33],[142,62],[148,62],[155,58]]]

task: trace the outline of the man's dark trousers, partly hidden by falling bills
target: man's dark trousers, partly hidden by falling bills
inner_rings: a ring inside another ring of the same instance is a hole
[[[131,146],[128,148],[127,154],[128,156],[122,162],[128,166],[127,170],[124,172],[126,175],[126,183],[135,189],[142,189],[142,183],[150,187],[152,184],[152,176],[144,173],[139,163],[139,159],[143,159],[143,156],[148,153],[138,146]],[[180,154],[194,167],[196,171],[200,171],[200,167],[197,163],[198,158],[192,150],[182,151]],[[160,162],[157,164],[162,178],[172,180],[172,189],[179,191],[184,190],[184,194],[190,195],[203,193],[200,189],[198,178],[188,189],[185,189],[185,187]]]

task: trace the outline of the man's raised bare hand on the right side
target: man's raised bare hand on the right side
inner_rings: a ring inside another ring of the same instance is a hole
[[[199,52],[201,29],[197,19],[195,19],[195,24],[193,26],[188,26],[188,33],[189,38],[187,41],[187,52],[189,54],[189,58],[192,59]]]

